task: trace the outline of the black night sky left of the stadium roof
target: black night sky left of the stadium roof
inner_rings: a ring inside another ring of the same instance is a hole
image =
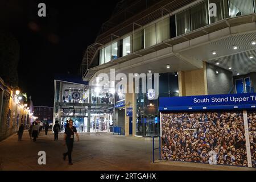
[[[46,17],[38,3],[46,3]],[[86,47],[94,43],[118,0],[1,0],[1,28],[19,42],[19,87],[34,105],[53,106],[55,74],[78,75]]]

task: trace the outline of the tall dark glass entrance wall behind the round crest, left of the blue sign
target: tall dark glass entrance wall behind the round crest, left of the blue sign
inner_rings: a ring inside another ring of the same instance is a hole
[[[154,85],[154,78],[152,78]],[[137,89],[137,88],[136,88]],[[136,133],[137,136],[152,137],[160,135],[159,100],[149,100],[142,93],[142,83],[136,94]],[[178,77],[174,73],[163,73],[159,77],[159,97],[179,96]]]

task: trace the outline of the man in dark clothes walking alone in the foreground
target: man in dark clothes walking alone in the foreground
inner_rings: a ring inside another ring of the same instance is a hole
[[[79,135],[77,134],[76,127],[73,126],[73,120],[69,120],[67,127],[65,127],[64,133],[64,146],[67,145],[68,152],[63,153],[63,160],[66,159],[68,155],[68,164],[72,165],[72,150],[73,150],[73,142],[74,142],[74,135],[76,134],[77,142],[79,142]]]

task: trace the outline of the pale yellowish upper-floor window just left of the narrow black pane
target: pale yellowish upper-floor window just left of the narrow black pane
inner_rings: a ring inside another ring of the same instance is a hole
[[[170,39],[170,18],[163,19],[156,23],[156,43]]]

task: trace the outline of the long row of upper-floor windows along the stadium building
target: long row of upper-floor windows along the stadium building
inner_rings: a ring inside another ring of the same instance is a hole
[[[209,16],[209,3],[216,4],[216,16]],[[224,18],[254,12],[255,0],[205,0],[181,13],[162,19],[160,22],[100,49],[100,64],[154,46],[175,36],[187,34]]]

